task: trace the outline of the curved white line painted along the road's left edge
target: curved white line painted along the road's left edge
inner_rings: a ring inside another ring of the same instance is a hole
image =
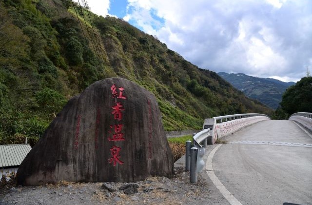
[[[206,170],[209,178],[211,181],[215,184],[215,186],[219,189],[221,194],[224,196],[226,200],[231,205],[242,205],[230,192],[225,186],[220,182],[220,180],[215,176],[214,169],[213,169],[213,157],[215,155],[216,150],[221,146],[222,144],[217,145],[208,155],[207,161],[206,161]]]

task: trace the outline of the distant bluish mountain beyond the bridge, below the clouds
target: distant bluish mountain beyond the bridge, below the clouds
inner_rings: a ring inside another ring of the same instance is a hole
[[[282,82],[272,78],[258,78],[243,73],[218,73],[224,80],[245,93],[249,98],[258,100],[276,109],[282,101],[285,90],[295,82]]]

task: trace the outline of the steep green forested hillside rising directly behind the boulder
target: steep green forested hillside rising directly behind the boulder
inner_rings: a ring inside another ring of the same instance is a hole
[[[154,93],[166,130],[272,111],[125,21],[70,0],[0,0],[0,143],[35,143],[70,98],[116,76]]]

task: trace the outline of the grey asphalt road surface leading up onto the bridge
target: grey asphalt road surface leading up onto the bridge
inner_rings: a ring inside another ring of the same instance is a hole
[[[264,121],[223,138],[213,171],[242,205],[312,205],[312,136],[292,121]]]

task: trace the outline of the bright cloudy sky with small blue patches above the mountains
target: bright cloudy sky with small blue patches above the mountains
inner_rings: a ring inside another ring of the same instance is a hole
[[[92,12],[128,21],[203,69],[284,82],[312,74],[312,0],[86,2]]]

